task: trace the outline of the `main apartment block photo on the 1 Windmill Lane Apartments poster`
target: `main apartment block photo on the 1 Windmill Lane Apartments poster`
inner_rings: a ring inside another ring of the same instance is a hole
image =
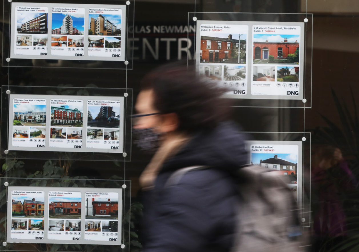
[[[47,34],[48,14],[22,12],[17,18],[17,33]]]

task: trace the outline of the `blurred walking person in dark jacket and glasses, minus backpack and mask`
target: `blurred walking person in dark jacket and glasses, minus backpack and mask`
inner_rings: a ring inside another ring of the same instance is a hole
[[[144,252],[229,251],[235,234],[236,171],[248,161],[244,136],[229,120],[228,90],[178,65],[142,80],[134,129],[159,148],[140,176]],[[206,166],[170,176],[181,168]]]

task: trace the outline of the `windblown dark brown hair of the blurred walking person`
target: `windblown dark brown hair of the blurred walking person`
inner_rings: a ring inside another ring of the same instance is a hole
[[[141,89],[153,89],[154,107],[160,113],[177,114],[180,131],[211,129],[229,116],[229,100],[222,98],[228,90],[186,66],[169,64],[151,71]]]

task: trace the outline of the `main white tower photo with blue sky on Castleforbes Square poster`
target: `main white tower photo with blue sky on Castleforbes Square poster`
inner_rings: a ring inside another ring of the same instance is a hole
[[[52,14],[51,34],[83,35],[85,14]]]

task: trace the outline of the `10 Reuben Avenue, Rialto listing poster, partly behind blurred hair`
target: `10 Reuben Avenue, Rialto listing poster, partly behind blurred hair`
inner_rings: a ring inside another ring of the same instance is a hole
[[[228,87],[228,94],[247,94],[248,25],[201,24],[199,74]]]

